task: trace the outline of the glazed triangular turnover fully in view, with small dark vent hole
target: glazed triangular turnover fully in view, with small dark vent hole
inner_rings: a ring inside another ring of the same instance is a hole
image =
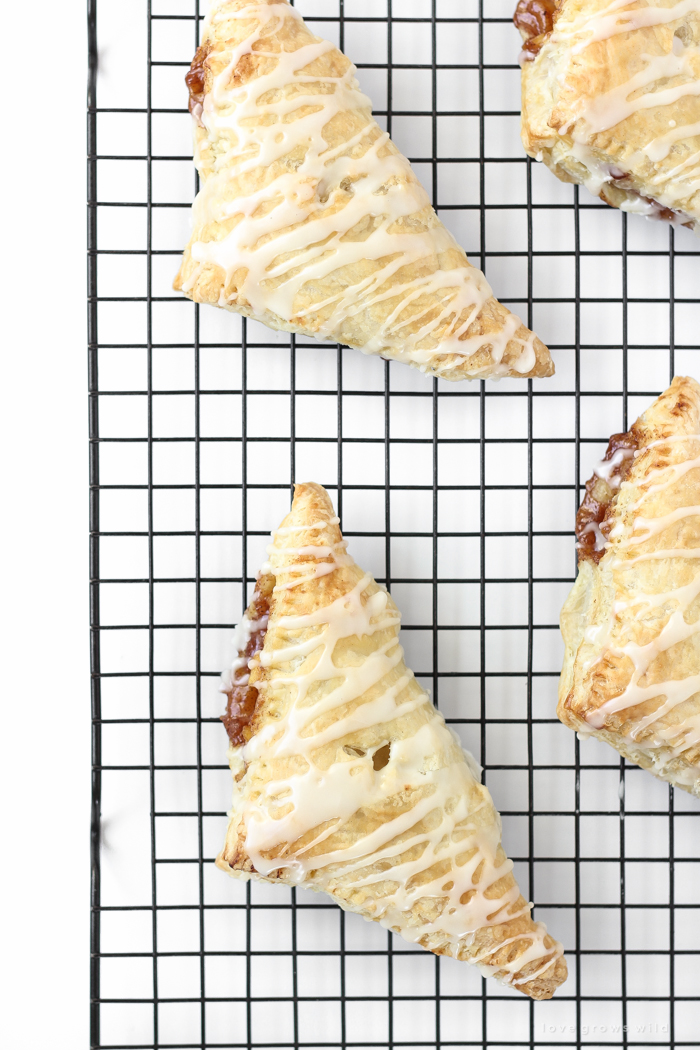
[[[479,768],[406,668],[386,590],[345,552],[320,485],[297,485],[225,675],[233,810],[216,863],[324,890],[533,999],[561,945],[501,847]]]

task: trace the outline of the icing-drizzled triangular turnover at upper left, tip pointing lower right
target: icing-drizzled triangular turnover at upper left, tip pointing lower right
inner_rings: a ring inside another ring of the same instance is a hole
[[[214,0],[187,77],[201,189],[175,289],[443,379],[552,375],[355,74],[287,0]]]

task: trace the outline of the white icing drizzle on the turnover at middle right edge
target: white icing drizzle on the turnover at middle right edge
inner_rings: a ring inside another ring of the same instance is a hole
[[[636,449],[634,455],[635,458],[642,456],[654,446],[667,446],[671,450],[679,443],[685,444],[686,442],[699,445],[700,435],[676,435],[673,438],[660,439]],[[628,711],[648,700],[660,699],[661,702],[654,711],[633,720],[627,736],[629,744],[635,747],[640,742],[639,737],[644,734],[642,744],[644,749],[650,749],[648,754],[655,770],[660,773],[674,758],[678,758],[700,743],[700,713],[685,717],[680,724],[656,726],[660,718],[700,691],[700,673],[691,674],[684,678],[666,677],[653,685],[642,685],[641,682],[654,662],[662,653],[700,632],[700,621],[687,623],[685,620],[687,610],[700,596],[700,547],[642,550],[638,554],[635,554],[635,548],[639,548],[653,537],[659,536],[684,519],[700,517],[700,505],[681,505],[658,516],[651,516],[649,511],[648,514],[639,514],[637,511],[645,505],[649,506],[650,498],[676,485],[690,470],[700,469],[700,452],[697,455],[687,455],[685,449],[681,448],[680,455],[684,458],[651,470],[641,481],[625,480],[622,482],[620,491],[635,484],[639,489],[639,497],[625,507],[625,516],[634,516],[631,519],[631,529],[625,528],[622,521],[617,522],[611,532],[612,542],[607,544],[609,548],[607,556],[612,555],[608,563],[609,571],[612,573],[623,572],[627,568],[642,562],[679,559],[688,567],[693,567],[690,583],[666,592],[644,591],[640,593],[638,586],[635,586],[629,598],[618,598],[613,603],[610,620],[607,623],[593,625],[585,632],[587,642],[600,647],[603,652],[609,652],[614,656],[627,656],[633,666],[630,680],[622,692],[601,705],[596,711],[589,713],[587,721],[594,729],[599,730],[604,727],[608,716]],[[625,532],[627,536],[624,536]],[[697,565],[694,566],[693,563],[697,563]],[[623,581],[624,578],[621,579]],[[624,590],[623,582],[621,586]],[[645,618],[650,614],[653,615],[654,610],[658,610],[659,615],[666,614],[667,618],[662,629],[646,645],[639,645],[635,642],[619,645],[614,640],[614,634],[619,635],[620,627],[623,629],[627,621],[621,617],[629,610],[635,610],[635,618]],[[650,729],[653,729],[651,736],[648,735]],[[691,788],[695,794],[700,793],[700,769],[691,765],[680,772],[675,771],[674,778]]]

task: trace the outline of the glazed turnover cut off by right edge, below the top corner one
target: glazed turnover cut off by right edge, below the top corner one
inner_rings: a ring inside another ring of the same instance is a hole
[[[558,716],[700,797],[700,385],[613,435],[576,519]]]

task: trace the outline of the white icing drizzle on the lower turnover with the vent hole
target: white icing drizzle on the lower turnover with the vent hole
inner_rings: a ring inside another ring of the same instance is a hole
[[[306,533],[306,526],[287,526],[279,531],[289,534],[295,530]],[[344,541],[330,545],[322,536],[318,546],[273,544],[268,553],[271,571],[276,578],[284,576],[283,582],[276,583],[277,591],[289,591],[318,574],[310,573],[310,563],[301,558],[311,556],[317,566],[332,569],[355,564],[345,553]],[[283,648],[263,649],[251,660],[251,667],[259,662],[269,669],[276,692],[281,689],[288,694],[291,690],[294,700],[280,717],[264,722],[242,748],[232,748],[230,758],[232,770],[245,769],[250,777],[262,764],[270,771],[276,761],[294,757],[295,773],[262,786],[253,779],[255,791],[243,790],[238,782],[232,818],[240,822],[239,828],[245,827],[245,849],[258,875],[266,877],[282,869],[290,884],[311,884],[333,892],[334,879],[352,873],[353,891],[367,890],[364,904],[357,910],[366,914],[373,909],[374,919],[411,942],[440,936],[441,943],[448,942],[457,953],[458,946],[473,944],[479,929],[528,915],[530,905],[518,906],[516,884],[501,897],[485,896],[512,869],[512,862],[503,854],[499,856],[501,820],[488,791],[479,783],[478,763],[463,751],[457,734],[434,710],[428,694],[423,689],[406,689],[413,675],[403,663],[398,643],[400,616],[386,591],[375,591],[375,586],[373,578],[364,574],[342,596],[312,613],[273,615],[271,629],[289,632],[289,643]],[[307,632],[310,628],[318,630],[311,636],[306,634],[305,640],[298,640],[295,632]],[[384,632],[385,638],[360,663],[336,666],[338,643],[378,632]],[[305,663],[311,654],[314,658]],[[393,672],[395,676],[398,673],[398,678],[386,685]],[[373,690],[374,698],[353,706],[352,701],[368,690]],[[339,711],[334,719],[333,713],[341,708],[345,713]],[[400,732],[391,736],[396,719],[419,712],[422,724],[419,722],[412,736],[402,738]],[[340,744],[349,733],[384,724],[390,750],[381,769],[375,769],[373,761],[379,749],[373,747],[369,754]],[[339,741],[338,757],[321,768],[315,754],[334,741]],[[342,848],[333,846],[331,836],[360,808],[381,806],[408,790],[417,793],[409,808],[399,808],[394,819],[380,823],[354,843]],[[420,828],[419,822],[429,816],[431,820]],[[313,842],[294,847],[314,830],[318,834]],[[404,836],[400,843],[396,841],[398,836]],[[326,841],[327,852],[319,852],[318,846]],[[317,852],[309,857],[312,846]],[[428,873],[432,875],[429,881],[411,885],[413,876],[446,860],[447,874],[444,869],[439,875]],[[382,870],[369,870],[369,865],[378,861],[385,862]],[[421,902],[426,898],[433,902],[438,899],[438,917],[432,921],[421,911]],[[352,902],[344,906],[354,909]],[[497,972],[505,983],[527,983],[561,954],[556,942],[550,948],[545,946],[545,936],[546,927],[536,923],[527,932],[499,944],[530,942],[512,962],[488,964],[486,960],[496,947],[493,944],[472,961],[486,974]],[[537,960],[543,964],[536,972],[518,975]]]

